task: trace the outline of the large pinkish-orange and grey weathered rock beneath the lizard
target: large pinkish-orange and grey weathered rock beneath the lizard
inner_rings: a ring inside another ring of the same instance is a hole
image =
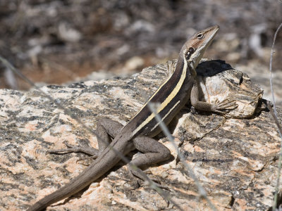
[[[171,63],[175,64],[175,61]],[[56,101],[95,128],[98,117],[125,124],[170,74],[168,65],[145,68],[124,79],[88,81],[68,87],[43,87]],[[221,60],[205,60],[197,68],[202,98],[235,100],[238,108],[226,116],[188,106],[171,122],[176,143],[209,199],[218,210],[266,210],[276,186],[280,139],[262,101],[262,89],[243,72]],[[85,165],[80,153],[50,155],[49,149],[73,145],[97,148],[89,134],[66,112],[37,90],[0,90],[1,210],[25,210],[76,177]],[[281,108],[278,108],[281,119]],[[176,151],[159,135],[174,159],[149,167],[183,210],[210,210],[198,198],[195,182],[185,174]],[[130,153],[132,156],[134,153]],[[176,210],[159,194],[128,182],[123,163],[88,188],[47,210]]]

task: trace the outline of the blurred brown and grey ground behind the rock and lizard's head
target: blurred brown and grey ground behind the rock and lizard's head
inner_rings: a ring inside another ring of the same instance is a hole
[[[0,0],[0,56],[39,84],[131,75],[177,58],[190,35],[216,24],[204,57],[226,60],[268,89],[280,23],[279,0]],[[278,90],[281,44],[282,31],[273,63]],[[30,87],[0,63],[0,88]]]

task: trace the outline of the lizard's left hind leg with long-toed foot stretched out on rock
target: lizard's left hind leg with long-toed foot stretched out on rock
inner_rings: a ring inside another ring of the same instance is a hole
[[[67,148],[58,150],[49,150],[49,153],[85,153],[90,155],[91,158],[97,158],[104,149],[109,146],[111,142],[111,137],[114,138],[118,131],[123,127],[123,124],[111,120],[109,118],[103,118],[97,122],[97,129],[95,133],[97,134],[97,142],[99,150],[93,148],[92,146],[73,146],[67,141]]]

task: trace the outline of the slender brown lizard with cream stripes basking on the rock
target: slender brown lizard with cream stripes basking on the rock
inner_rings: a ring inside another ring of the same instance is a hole
[[[157,113],[165,124],[171,122],[173,117],[189,101],[197,110],[207,110],[219,114],[225,114],[226,112],[223,110],[234,109],[236,107],[235,102],[228,101],[228,99],[220,103],[218,101],[208,103],[198,99],[200,88],[196,79],[197,72],[195,68],[200,63],[205,50],[212,43],[218,30],[218,25],[208,27],[195,33],[185,42],[180,50],[174,72],[125,126],[108,118],[97,122],[96,132],[99,136],[99,138],[97,136],[99,150],[94,148],[87,151],[85,148],[80,150],[94,155],[96,160],[82,171],[78,177],[75,177],[54,193],[38,200],[27,210],[44,210],[44,208],[63,198],[73,196],[93,181],[99,179],[99,177],[102,177],[121,160],[115,151],[123,155],[135,149],[140,151],[141,154],[130,161],[131,164],[137,167],[168,160],[171,156],[168,148],[152,139],[161,132],[161,129],[159,128],[159,122],[154,118],[155,113],[152,113],[147,106],[149,102],[158,103]],[[66,145],[68,146],[68,144]],[[68,147],[73,148],[73,152],[77,152],[75,146]],[[111,148],[114,148],[114,151]],[[69,148],[68,151],[72,150]],[[137,171],[130,170],[130,172],[134,176],[144,179]]]

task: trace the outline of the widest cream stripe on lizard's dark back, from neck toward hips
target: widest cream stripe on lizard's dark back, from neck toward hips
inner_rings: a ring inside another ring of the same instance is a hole
[[[186,77],[186,72],[187,72],[187,68],[188,68],[188,64],[187,64],[187,60],[184,59],[184,66],[183,66],[183,71],[181,73],[181,77],[178,81],[178,83],[176,84],[176,87],[174,87],[173,91],[171,91],[171,94],[169,94],[169,96],[166,98],[166,100],[164,100],[164,102],[161,103],[161,105],[158,107],[157,109],[157,113],[160,113],[161,110],[163,110],[169,102],[171,102],[171,100],[176,96],[176,94],[178,94],[178,91],[180,90],[180,88],[182,87],[182,84],[185,80]],[[164,83],[165,84],[165,83]],[[163,84],[163,85],[164,85]],[[162,86],[161,86],[162,87]],[[158,89],[159,91],[159,89]],[[156,92],[157,93],[157,92]],[[149,121],[151,121],[154,118],[154,113],[152,113],[151,115],[149,115],[149,117],[147,117],[147,119],[145,121],[142,122],[142,124],[140,124],[134,131],[133,131],[133,136],[140,130],[142,129],[142,127],[144,127]]]

